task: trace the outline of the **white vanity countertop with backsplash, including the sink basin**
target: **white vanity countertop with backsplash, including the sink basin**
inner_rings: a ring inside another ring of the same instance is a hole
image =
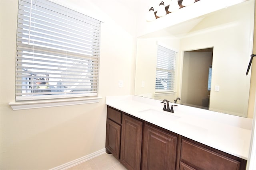
[[[162,111],[159,100],[107,96],[106,105],[223,152],[248,159],[252,119],[179,105]],[[170,103],[170,106],[172,103]]]

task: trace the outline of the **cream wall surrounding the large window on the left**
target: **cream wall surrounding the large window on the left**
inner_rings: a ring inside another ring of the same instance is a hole
[[[104,149],[105,97],[134,92],[136,13],[113,0],[73,0],[69,7],[104,21],[99,79],[102,100],[97,104],[13,111],[8,103],[15,98],[18,0],[0,1],[2,170],[50,169]],[[123,80],[122,88],[118,87],[118,80]]]

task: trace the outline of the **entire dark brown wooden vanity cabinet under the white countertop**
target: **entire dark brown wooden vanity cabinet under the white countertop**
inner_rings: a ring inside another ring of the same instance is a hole
[[[106,152],[128,170],[245,170],[246,160],[108,106]]]

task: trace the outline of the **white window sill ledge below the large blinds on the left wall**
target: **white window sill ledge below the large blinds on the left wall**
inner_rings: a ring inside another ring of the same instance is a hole
[[[9,105],[13,110],[35,109],[44,107],[69,106],[78,104],[91,104],[100,102],[101,97],[92,98],[70,98],[58,100],[38,100],[26,102],[10,102]]]

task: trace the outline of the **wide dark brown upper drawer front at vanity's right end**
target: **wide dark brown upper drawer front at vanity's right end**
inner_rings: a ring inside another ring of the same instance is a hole
[[[181,161],[202,170],[239,170],[240,162],[182,139]]]

